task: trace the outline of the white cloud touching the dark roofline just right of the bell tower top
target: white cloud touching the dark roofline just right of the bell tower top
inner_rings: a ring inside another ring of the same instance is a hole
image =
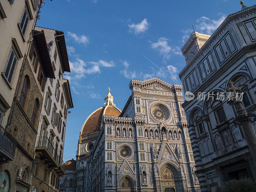
[[[218,20],[213,20],[208,17],[202,16],[196,20],[198,23],[196,25],[196,30],[201,33],[207,33],[212,35],[212,33],[220,26],[220,24],[226,19],[226,15],[219,13],[220,18]]]

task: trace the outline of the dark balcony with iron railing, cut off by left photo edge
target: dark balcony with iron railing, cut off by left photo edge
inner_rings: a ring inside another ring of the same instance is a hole
[[[0,125],[0,164],[14,159],[17,141]]]

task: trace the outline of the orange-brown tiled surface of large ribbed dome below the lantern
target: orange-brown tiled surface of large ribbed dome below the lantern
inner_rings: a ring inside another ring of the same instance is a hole
[[[107,105],[98,108],[85,120],[81,129],[81,135],[99,132],[103,115],[119,116],[121,112],[116,106]]]

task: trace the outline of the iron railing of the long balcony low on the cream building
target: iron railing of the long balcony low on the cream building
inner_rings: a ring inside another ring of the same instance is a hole
[[[62,157],[58,155],[57,150],[53,147],[53,141],[49,140],[48,137],[38,137],[36,147],[45,147],[47,151],[50,153],[52,158],[56,161],[56,163],[62,165],[63,160]]]

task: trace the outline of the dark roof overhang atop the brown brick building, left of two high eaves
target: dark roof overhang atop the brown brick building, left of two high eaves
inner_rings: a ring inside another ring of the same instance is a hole
[[[44,69],[44,73],[46,77],[55,79],[54,69],[53,69],[52,61],[49,55],[48,46],[47,46],[45,35],[44,35],[44,30],[42,31],[35,30],[33,38],[35,40],[40,59],[42,61],[42,68]]]

